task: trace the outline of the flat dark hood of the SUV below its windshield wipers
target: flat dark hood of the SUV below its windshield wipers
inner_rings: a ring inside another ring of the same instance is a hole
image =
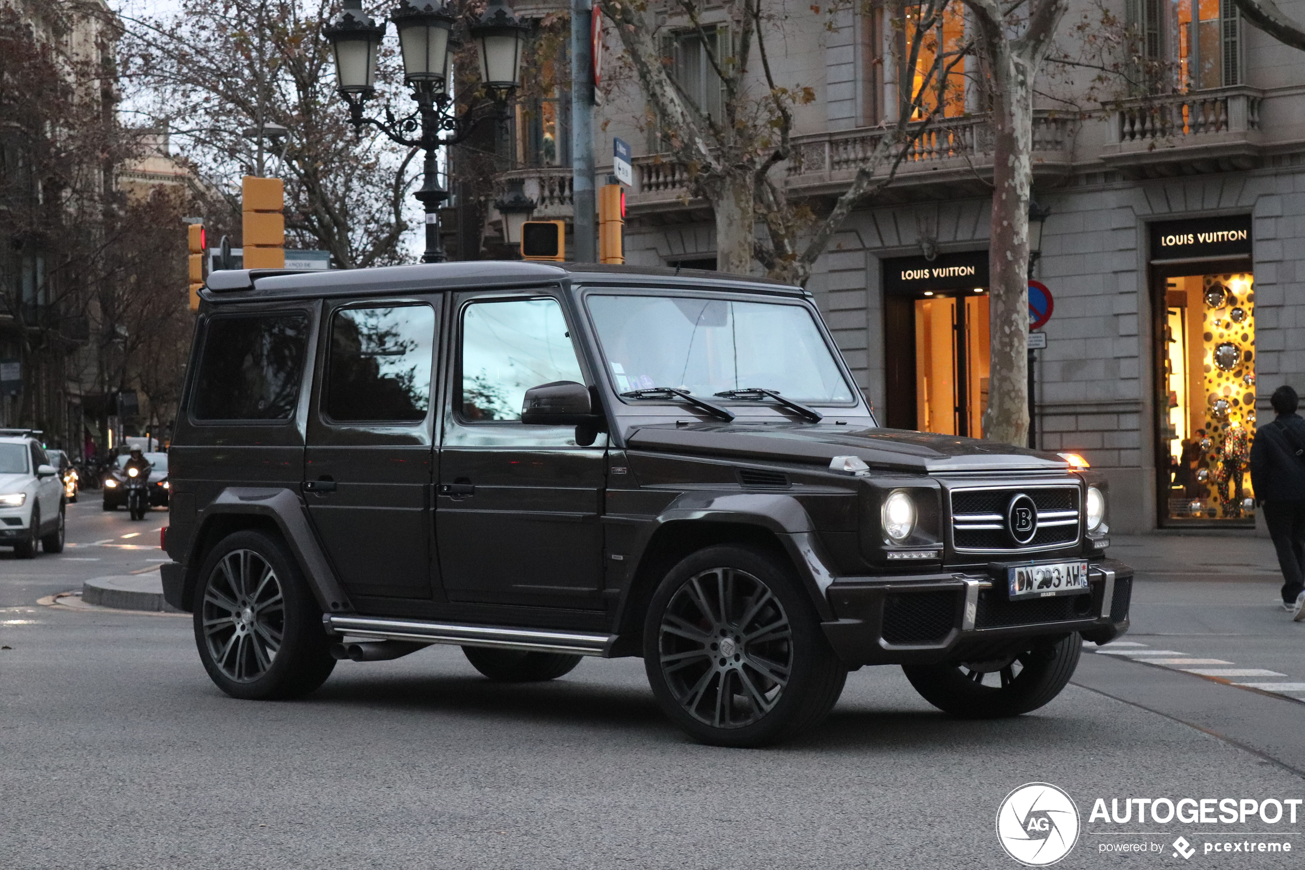
[[[780,462],[829,464],[834,457],[859,457],[872,468],[949,471],[1064,471],[1054,454],[996,441],[825,424],[659,424],[636,429],[626,443],[634,450],[727,454]]]

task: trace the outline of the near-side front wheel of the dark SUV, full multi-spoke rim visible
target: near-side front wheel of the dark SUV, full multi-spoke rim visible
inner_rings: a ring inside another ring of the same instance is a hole
[[[806,732],[847,681],[792,569],[741,545],[710,547],[671,569],[649,601],[643,667],[662,711],[714,746]]]

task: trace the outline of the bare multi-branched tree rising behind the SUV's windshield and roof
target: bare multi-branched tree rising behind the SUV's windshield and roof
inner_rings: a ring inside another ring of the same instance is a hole
[[[713,117],[676,82],[668,70],[659,34],[647,21],[643,0],[602,0],[604,13],[633,67],[639,89],[656,115],[660,136],[669,142],[671,159],[689,167],[690,192],[706,198],[716,224],[716,265],[722,271],[749,274],[753,258],[780,280],[805,284],[812,266],[825,252],[859,202],[891,184],[897,170],[929,121],[942,111],[934,89],[941,76],[960,61],[967,48],[946,50],[936,42],[934,25],[946,0],[925,0],[915,7],[919,17],[907,34],[907,63],[915,69],[923,53],[930,68],[920,70],[920,86],[900,94],[899,120],[885,129],[873,154],[859,167],[847,190],[829,214],[817,217],[808,203],[793,202],[779,176],[780,164],[793,159],[791,136],[793,107],[816,99],[810,87],[776,81],[767,38],[779,31],[779,20],[762,0],[727,0],[726,18],[736,29],[729,44],[713,44],[702,20],[702,4],[679,0],[677,13],[686,29],[697,31],[709,64],[722,82],[720,117]],[[850,4],[835,4],[835,9]],[[898,22],[902,26],[902,22]],[[754,70],[756,47],[761,72]],[[766,241],[756,239],[758,219]]]

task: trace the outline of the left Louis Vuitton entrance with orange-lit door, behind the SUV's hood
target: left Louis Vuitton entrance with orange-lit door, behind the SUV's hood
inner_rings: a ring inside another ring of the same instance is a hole
[[[987,252],[887,260],[883,267],[885,423],[981,438],[990,357]]]

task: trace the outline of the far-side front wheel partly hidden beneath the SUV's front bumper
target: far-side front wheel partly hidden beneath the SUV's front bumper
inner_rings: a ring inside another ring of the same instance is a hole
[[[1082,652],[1083,639],[1075,631],[1040,638],[1009,659],[902,665],[902,670],[915,690],[944,712],[964,719],[1002,719],[1037,710],[1058,695],[1074,676]]]

